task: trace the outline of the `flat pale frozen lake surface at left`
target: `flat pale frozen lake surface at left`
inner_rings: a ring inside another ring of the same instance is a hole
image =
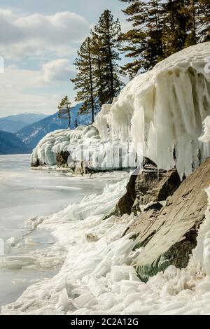
[[[69,173],[53,170],[32,170],[29,155],[0,156],[0,239],[21,241],[23,237],[35,242],[22,248],[6,248],[2,257],[19,257],[32,248],[45,248],[53,244],[48,232],[29,232],[25,221],[34,216],[47,216],[68,204],[80,202],[85,195],[102,193],[106,183],[113,182],[109,176],[90,179],[72,177]],[[10,240],[9,240],[10,241]],[[37,244],[37,245],[36,245]],[[57,269],[1,269],[0,306],[15,301],[35,281],[45,279]]]

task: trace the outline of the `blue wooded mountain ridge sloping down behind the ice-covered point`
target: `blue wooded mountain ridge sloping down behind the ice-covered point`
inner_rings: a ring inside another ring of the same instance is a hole
[[[92,123],[91,114],[78,115],[80,106],[81,104],[78,104],[71,109],[71,129],[75,129],[76,125],[90,125]],[[55,113],[38,121],[38,123],[23,128],[17,132],[17,136],[32,150],[48,132],[66,129],[67,126],[68,120],[59,119],[57,113]]]

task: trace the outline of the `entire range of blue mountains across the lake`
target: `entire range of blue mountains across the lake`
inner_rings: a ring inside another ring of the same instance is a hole
[[[90,113],[79,114],[80,106],[81,104],[78,104],[71,109],[71,129],[75,129],[77,125],[92,123]],[[18,125],[24,126],[17,131]],[[31,153],[48,132],[66,129],[67,126],[68,120],[59,119],[57,113],[52,116],[45,116],[41,113],[22,113],[18,116],[0,118],[0,155]],[[15,130],[15,134],[9,134],[5,132],[6,130],[10,132]]]

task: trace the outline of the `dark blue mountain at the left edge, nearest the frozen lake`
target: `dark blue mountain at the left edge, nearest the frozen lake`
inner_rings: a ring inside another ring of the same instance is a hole
[[[28,146],[25,145],[15,134],[0,131],[0,155],[3,154],[27,154],[31,153]]]

